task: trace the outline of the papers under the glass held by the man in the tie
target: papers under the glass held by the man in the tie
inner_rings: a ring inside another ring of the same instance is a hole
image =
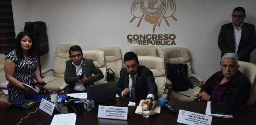
[[[137,106],[135,110],[135,114],[142,114],[142,102],[144,100],[140,100],[140,104]],[[158,105],[158,101],[153,101],[153,109],[150,111],[150,114],[160,114],[161,107]]]

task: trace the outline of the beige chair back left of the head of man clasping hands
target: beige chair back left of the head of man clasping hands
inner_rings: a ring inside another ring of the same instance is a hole
[[[64,78],[66,61],[69,60],[69,49],[73,44],[61,44],[56,46],[53,70],[55,77]]]

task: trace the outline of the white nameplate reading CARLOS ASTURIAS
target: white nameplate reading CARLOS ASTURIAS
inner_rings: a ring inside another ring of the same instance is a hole
[[[193,113],[180,109],[177,123],[186,125],[211,125],[211,120],[212,116]]]

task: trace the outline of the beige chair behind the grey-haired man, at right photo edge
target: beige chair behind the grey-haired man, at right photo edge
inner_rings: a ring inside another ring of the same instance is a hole
[[[250,98],[247,104],[253,105],[256,101],[256,65],[249,62],[238,61],[239,71],[242,72],[252,84]]]

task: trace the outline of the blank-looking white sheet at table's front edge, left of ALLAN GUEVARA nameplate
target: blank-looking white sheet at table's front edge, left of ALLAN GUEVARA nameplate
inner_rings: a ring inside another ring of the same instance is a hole
[[[75,125],[76,115],[72,114],[55,114],[50,125]]]

